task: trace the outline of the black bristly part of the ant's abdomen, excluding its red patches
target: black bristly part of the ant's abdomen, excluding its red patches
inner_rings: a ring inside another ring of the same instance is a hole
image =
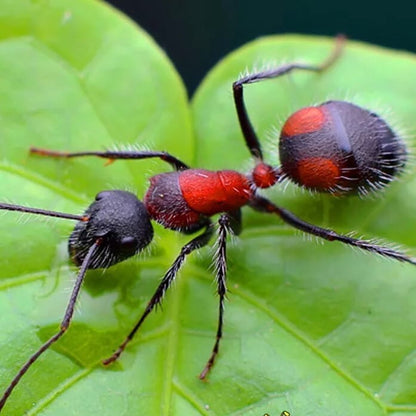
[[[282,169],[295,183],[322,192],[366,194],[388,185],[403,171],[406,146],[380,116],[345,101],[316,107],[326,117],[319,130],[280,136]],[[327,159],[339,168],[333,188],[304,184],[298,167],[314,158]]]

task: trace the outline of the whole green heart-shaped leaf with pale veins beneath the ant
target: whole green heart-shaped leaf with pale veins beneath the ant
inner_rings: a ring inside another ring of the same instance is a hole
[[[250,166],[231,83],[246,67],[302,58],[321,62],[333,40],[262,39],[232,54],[193,102],[153,41],[91,0],[0,0],[0,194],[30,206],[80,213],[98,191],[137,190],[161,162],[29,156],[31,145],[95,150],[138,144],[207,168]],[[277,163],[271,126],[311,102],[350,98],[412,130],[414,57],[348,44],[322,75],[296,74],[247,88],[250,115]],[[383,113],[384,114],[384,113]],[[396,125],[395,124],[395,125]],[[269,153],[270,152],[270,153]],[[301,217],[415,249],[414,175],[379,199],[333,199],[289,187],[268,194]],[[305,241],[276,218],[244,210],[230,244],[229,302],[218,361],[211,351],[218,299],[212,250],[192,255],[121,359],[118,346],[188,237],[156,226],[150,253],[88,273],[65,337],[10,397],[4,415],[385,415],[416,411],[415,271],[339,244]],[[71,221],[4,212],[0,223],[0,391],[57,330],[76,270],[68,266]],[[22,220],[22,221],[20,221]]]

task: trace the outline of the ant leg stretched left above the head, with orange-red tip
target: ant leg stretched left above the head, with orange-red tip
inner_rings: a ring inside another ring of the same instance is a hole
[[[189,169],[189,166],[177,159],[175,156],[167,152],[153,152],[148,150],[136,151],[136,150],[126,150],[126,151],[111,151],[107,150],[104,152],[58,152],[48,149],[39,149],[37,147],[31,147],[30,153],[47,156],[47,157],[81,157],[81,156],[96,156],[103,159],[108,159],[109,161],[114,161],[117,159],[150,159],[158,157],[159,159],[169,163],[175,170],[185,170]]]

